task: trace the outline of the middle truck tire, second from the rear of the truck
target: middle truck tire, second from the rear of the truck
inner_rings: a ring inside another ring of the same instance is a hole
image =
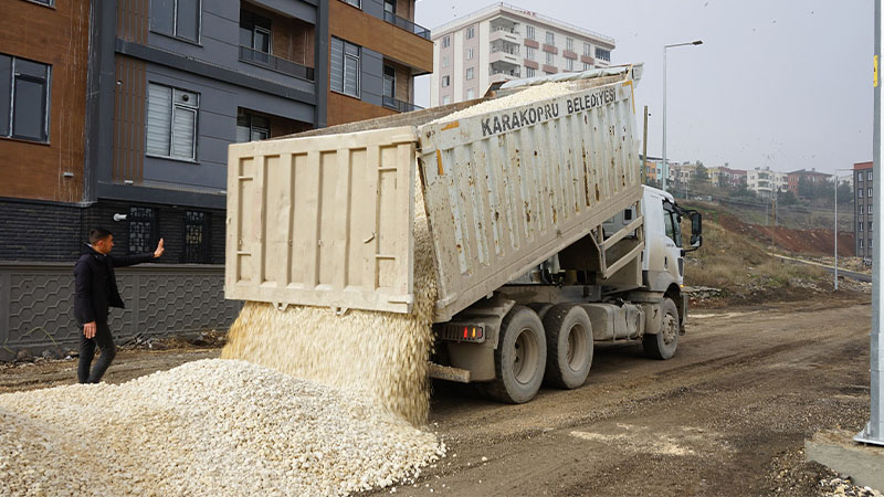
[[[561,389],[583,385],[592,366],[592,324],[576,304],[557,304],[544,317],[547,356],[545,382]]]

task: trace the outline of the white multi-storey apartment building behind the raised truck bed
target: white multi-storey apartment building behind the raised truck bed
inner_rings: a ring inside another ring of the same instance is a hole
[[[490,85],[607,67],[615,42],[537,12],[498,2],[435,28],[431,105],[484,95]]]

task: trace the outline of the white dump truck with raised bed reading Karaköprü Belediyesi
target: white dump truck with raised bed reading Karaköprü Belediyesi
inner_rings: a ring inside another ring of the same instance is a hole
[[[599,342],[671,358],[702,218],[642,186],[641,70],[509,82],[478,101],[230,146],[227,298],[411,313],[422,194],[438,272],[431,376],[522,403],[544,382],[582,385]]]

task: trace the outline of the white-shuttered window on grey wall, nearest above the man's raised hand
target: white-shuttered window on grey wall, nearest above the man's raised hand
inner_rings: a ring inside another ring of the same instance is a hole
[[[147,154],[197,160],[200,95],[150,83],[147,89]]]

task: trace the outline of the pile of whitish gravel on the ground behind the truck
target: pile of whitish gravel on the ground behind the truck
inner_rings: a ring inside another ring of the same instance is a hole
[[[244,361],[0,395],[1,495],[345,495],[443,453],[361,394]]]

